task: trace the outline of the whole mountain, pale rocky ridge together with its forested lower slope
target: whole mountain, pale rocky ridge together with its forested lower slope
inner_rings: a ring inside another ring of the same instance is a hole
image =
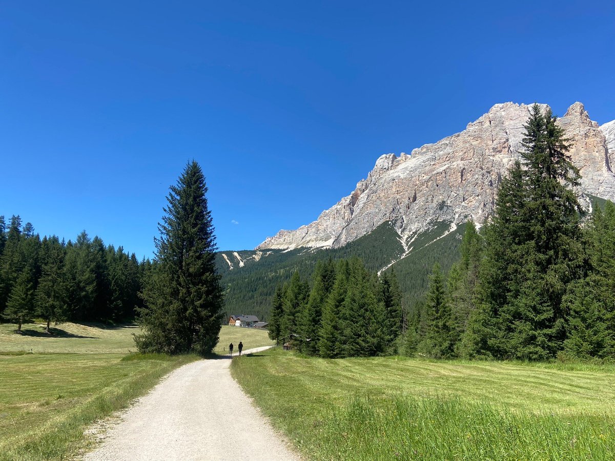
[[[413,309],[434,262],[446,271],[458,258],[464,223],[472,219],[480,226],[493,213],[499,183],[519,158],[529,110],[496,104],[461,133],[410,155],[381,156],[350,195],[313,223],[280,230],[256,250],[218,253],[228,313],[267,318],[277,283],[295,270],[309,277],[318,259],[350,256],[379,273],[394,269],[405,305]],[[615,121],[600,127],[574,103],[559,124],[581,170],[582,205],[590,210],[592,200],[615,200]]]

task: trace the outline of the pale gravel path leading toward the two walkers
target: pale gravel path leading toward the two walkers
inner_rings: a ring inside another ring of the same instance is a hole
[[[298,460],[232,379],[230,364],[229,358],[199,360],[173,371],[84,459]]]

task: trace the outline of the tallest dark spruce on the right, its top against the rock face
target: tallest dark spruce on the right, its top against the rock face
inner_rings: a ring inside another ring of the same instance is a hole
[[[515,164],[498,191],[485,230],[482,300],[464,337],[467,355],[544,360],[566,335],[562,299],[582,276],[579,171],[550,109],[531,109],[523,167]]]

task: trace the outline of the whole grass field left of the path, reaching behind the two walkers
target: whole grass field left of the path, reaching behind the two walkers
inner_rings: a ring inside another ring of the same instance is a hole
[[[134,325],[0,324],[0,460],[66,459],[87,446],[84,430],[146,393],[173,369],[197,360],[129,354]],[[267,332],[224,326],[220,348],[271,344]],[[218,350],[220,349],[220,350]]]

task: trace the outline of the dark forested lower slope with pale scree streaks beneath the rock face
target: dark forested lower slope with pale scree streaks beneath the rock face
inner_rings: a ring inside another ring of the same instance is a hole
[[[395,270],[410,309],[427,289],[427,275],[434,262],[444,270],[458,258],[464,225],[451,231],[450,223],[437,223],[432,229],[400,239],[391,223],[383,223],[363,237],[341,248],[297,248],[295,250],[222,251],[217,254],[218,271],[226,287],[226,310],[268,318],[271,299],[278,283],[290,280],[298,270],[311,277],[319,259],[358,256],[372,271]],[[244,261],[239,267],[237,255]],[[258,261],[254,256],[261,254]],[[266,254],[266,256],[264,256]],[[230,269],[231,261],[233,269]]]

